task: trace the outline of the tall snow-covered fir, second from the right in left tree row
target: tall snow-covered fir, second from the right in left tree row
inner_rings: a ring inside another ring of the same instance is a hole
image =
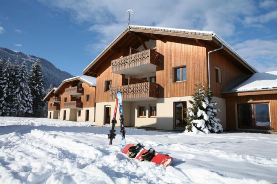
[[[16,114],[19,117],[29,117],[31,114],[33,114],[33,99],[28,84],[29,75],[26,61],[22,63],[19,74],[16,78],[18,79],[18,87],[15,91],[15,104],[17,106]]]

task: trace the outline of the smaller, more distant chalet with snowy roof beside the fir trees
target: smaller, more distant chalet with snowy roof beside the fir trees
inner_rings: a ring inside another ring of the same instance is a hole
[[[68,121],[95,121],[96,79],[77,76],[66,79],[44,98],[48,101],[48,118]]]

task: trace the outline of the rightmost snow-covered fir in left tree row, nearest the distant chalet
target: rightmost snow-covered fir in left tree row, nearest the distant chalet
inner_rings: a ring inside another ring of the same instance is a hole
[[[31,95],[33,97],[33,116],[44,117],[43,109],[45,102],[43,101],[45,96],[44,81],[42,74],[42,66],[39,63],[39,59],[32,65],[29,78],[29,87],[31,89]]]

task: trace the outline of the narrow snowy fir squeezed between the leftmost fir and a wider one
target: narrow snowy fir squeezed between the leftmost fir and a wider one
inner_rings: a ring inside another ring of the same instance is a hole
[[[17,93],[16,89],[18,88],[18,77],[19,77],[19,61],[16,58],[14,64],[11,67],[11,90],[12,90],[12,98],[13,98],[13,108],[12,108],[12,116],[17,116],[19,104],[17,104]]]

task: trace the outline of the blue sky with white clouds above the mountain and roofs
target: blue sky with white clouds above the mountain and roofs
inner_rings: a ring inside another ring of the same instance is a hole
[[[259,72],[277,71],[276,0],[3,0],[0,47],[77,76],[131,25],[213,31]]]

